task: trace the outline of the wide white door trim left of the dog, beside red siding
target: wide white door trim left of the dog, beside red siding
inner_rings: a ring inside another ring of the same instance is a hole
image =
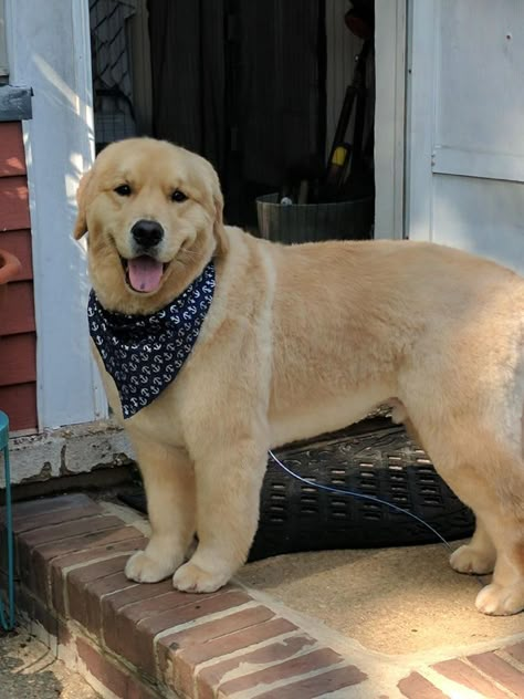
[[[87,0],[6,0],[12,84],[33,88],[23,123],[34,271],[40,429],[107,416],[91,357],[85,250],[72,239],[75,191],[93,163]]]

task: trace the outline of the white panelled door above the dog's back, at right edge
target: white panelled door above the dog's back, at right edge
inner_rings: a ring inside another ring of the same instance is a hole
[[[407,234],[524,273],[524,2],[408,15]]]

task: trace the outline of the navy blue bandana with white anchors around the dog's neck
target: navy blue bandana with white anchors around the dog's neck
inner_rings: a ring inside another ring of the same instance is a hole
[[[214,291],[214,264],[153,315],[126,315],[102,307],[91,290],[90,334],[129,418],[169,386],[191,354]]]

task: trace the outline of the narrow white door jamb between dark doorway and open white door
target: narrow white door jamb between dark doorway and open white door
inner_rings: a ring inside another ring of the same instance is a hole
[[[375,9],[375,238],[405,237],[407,0]]]

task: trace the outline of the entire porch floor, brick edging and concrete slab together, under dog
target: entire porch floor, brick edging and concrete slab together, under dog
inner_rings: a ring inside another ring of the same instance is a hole
[[[42,499],[14,529],[27,623],[112,699],[524,697],[523,616],[478,615],[439,549],[285,556],[191,595],[125,578],[147,533],[127,508]]]

